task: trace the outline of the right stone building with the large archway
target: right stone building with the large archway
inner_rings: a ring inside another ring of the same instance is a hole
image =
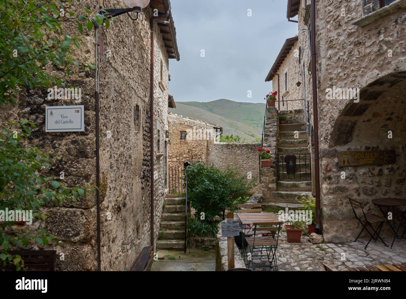
[[[361,231],[348,197],[381,214],[372,199],[406,194],[406,1],[316,0],[315,6],[318,120],[313,119],[311,88],[316,83],[311,1],[288,0],[287,18],[297,16],[312,163],[313,124],[319,124],[320,173],[312,173],[312,193],[319,175],[324,239],[343,242]],[[378,150],[394,150],[395,163],[339,166],[341,151]]]

